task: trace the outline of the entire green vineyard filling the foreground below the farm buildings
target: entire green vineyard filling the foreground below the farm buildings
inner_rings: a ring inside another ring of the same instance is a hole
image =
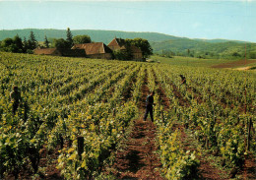
[[[0,75],[0,179],[256,178],[255,72],[0,53]]]

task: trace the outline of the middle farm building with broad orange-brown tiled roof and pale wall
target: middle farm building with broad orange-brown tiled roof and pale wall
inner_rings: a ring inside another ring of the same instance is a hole
[[[75,44],[72,49],[83,49],[89,58],[112,59],[112,50],[103,42]]]

